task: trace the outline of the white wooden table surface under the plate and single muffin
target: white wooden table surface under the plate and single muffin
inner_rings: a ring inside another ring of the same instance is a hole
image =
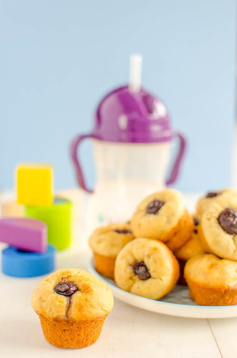
[[[78,237],[76,247],[58,254],[57,268],[87,270],[87,239],[79,233]],[[117,299],[95,344],[76,350],[53,347],[44,339],[39,318],[30,305],[31,292],[41,280],[42,276],[16,279],[0,273],[0,357],[237,357],[237,318],[172,317],[137,309]]]

